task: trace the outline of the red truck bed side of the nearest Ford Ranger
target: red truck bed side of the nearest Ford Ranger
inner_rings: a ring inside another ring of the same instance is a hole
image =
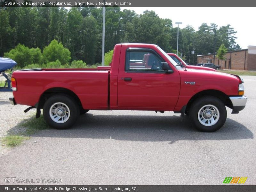
[[[42,93],[61,88],[76,93],[83,108],[108,109],[109,69],[32,69],[12,76],[17,79],[13,95],[19,104],[35,106]]]

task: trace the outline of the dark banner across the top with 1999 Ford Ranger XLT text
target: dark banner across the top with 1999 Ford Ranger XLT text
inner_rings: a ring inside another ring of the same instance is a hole
[[[2,7],[256,7],[256,1],[243,0],[0,0]],[[206,13],[209,14],[209,13]]]

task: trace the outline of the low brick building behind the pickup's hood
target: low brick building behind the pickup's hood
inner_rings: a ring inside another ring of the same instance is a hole
[[[222,69],[256,70],[256,46],[248,49],[227,52],[226,60],[219,60],[215,54],[215,65]],[[197,63],[213,63],[213,54],[197,56]]]

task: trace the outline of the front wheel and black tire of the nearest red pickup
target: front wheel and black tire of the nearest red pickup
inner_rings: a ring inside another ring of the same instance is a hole
[[[189,110],[189,118],[197,130],[214,132],[225,123],[227,110],[220,99],[204,96],[192,103]]]

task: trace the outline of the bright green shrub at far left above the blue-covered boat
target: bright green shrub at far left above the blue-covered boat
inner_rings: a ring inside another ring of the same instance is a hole
[[[25,45],[18,44],[14,49],[4,53],[4,57],[17,62],[17,67],[24,68],[29,64],[41,63],[42,53],[39,48],[29,49]]]

